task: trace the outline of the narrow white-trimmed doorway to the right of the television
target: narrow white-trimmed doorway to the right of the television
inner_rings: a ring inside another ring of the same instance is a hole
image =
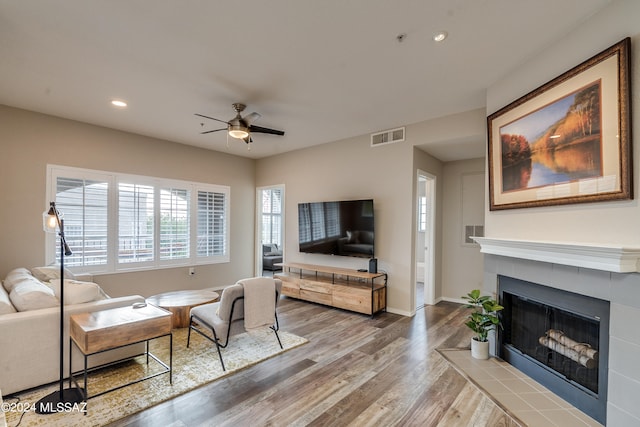
[[[435,302],[435,176],[418,170],[416,182],[416,310]]]

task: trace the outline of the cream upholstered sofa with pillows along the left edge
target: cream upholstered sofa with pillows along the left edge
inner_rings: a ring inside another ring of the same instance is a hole
[[[0,390],[9,394],[60,379],[59,267],[17,268],[0,286]],[[90,276],[65,273],[64,375],[69,374],[69,316],[143,302],[140,295],[109,298]],[[84,366],[73,346],[73,371]],[[140,354],[144,344],[101,353],[89,358],[97,366]]]

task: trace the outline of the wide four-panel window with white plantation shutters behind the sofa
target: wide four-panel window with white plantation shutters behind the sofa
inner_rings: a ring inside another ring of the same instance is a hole
[[[73,251],[67,267],[113,272],[229,261],[229,187],[63,166],[49,166],[47,176]],[[59,262],[58,244],[47,240],[48,263]]]

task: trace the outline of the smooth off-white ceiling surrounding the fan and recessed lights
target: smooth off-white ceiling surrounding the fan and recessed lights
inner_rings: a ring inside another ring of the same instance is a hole
[[[261,158],[484,107],[609,1],[0,0],[0,103]],[[229,120],[234,102],[285,136],[247,151],[200,134],[219,123],[194,113]],[[482,140],[421,148],[484,154]]]

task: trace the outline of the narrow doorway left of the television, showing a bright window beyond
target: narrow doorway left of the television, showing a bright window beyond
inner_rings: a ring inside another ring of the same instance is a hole
[[[284,257],[284,185],[256,191],[256,276],[273,276]]]

